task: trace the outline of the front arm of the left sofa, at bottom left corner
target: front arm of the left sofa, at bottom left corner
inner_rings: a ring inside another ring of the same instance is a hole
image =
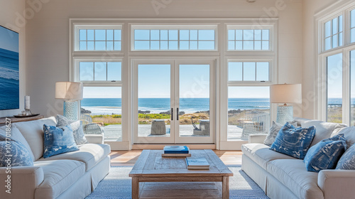
[[[4,198],[34,198],[35,188],[44,180],[43,169],[39,166],[13,166],[11,173],[9,171],[5,167],[0,168],[1,195]]]

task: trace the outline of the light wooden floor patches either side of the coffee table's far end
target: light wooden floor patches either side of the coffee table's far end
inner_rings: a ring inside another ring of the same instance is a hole
[[[142,150],[132,151],[111,151],[111,166],[133,166],[136,163]],[[226,166],[241,165],[241,151],[219,151],[214,150],[214,153],[221,158]]]

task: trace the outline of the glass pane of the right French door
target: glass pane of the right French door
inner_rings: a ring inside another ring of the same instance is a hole
[[[179,96],[179,136],[209,136],[209,65],[180,65]]]

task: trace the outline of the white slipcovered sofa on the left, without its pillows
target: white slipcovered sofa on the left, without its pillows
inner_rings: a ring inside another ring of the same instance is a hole
[[[109,173],[107,144],[83,144],[79,151],[43,158],[43,124],[55,126],[55,117],[12,124],[11,133],[21,132],[35,161],[34,166],[11,168],[11,194],[5,192],[9,174],[0,168],[0,198],[85,198]]]

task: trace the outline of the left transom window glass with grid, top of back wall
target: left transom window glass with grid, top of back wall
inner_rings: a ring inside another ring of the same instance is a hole
[[[80,29],[79,50],[121,50],[120,29]]]

